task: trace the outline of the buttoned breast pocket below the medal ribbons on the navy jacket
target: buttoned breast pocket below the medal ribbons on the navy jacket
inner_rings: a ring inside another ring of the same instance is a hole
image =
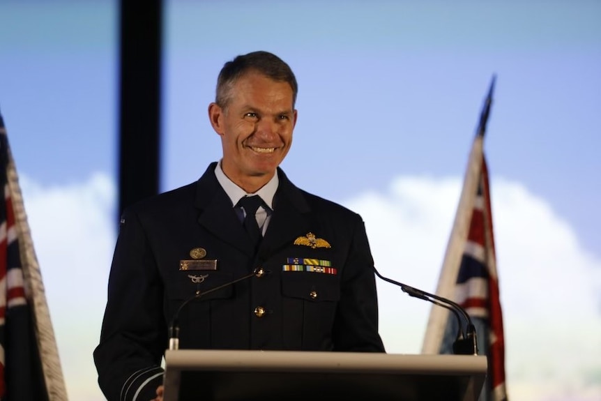
[[[307,271],[282,272],[284,337],[291,348],[332,349],[332,332],[340,280],[336,275]]]

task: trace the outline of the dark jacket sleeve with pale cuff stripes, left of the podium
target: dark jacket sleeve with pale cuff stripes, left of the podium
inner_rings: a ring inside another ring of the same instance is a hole
[[[162,384],[167,345],[163,284],[138,215],[121,218],[109,275],[100,343],[98,384],[109,401],[151,400]]]

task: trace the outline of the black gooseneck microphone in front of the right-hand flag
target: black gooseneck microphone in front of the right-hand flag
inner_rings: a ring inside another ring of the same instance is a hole
[[[432,302],[434,303],[434,305],[442,306],[443,308],[447,308],[448,310],[453,312],[453,315],[455,315],[455,319],[457,319],[457,326],[459,327],[457,331],[457,337],[455,338],[455,342],[453,342],[452,345],[453,354],[478,355],[476,326],[473,325],[471,317],[469,316],[468,312],[466,312],[466,310],[462,308],[461,305],[451,301],[448,298],[444,298],[443,296],[429,294],[428,292],[422,291],[421,289],[417,289],[415,287],[403,284],[402,282],[386,278],[383,275],[381,275],[379,271],[377,271],[375,266],[373,266],[372,268],[374,269],[374,272],[379,278],[401,287],[402,291],[408,294],[409,296]],[[466,322],[465,332],[463,331],[464,325],[460,316],[462,316],[464,318],[464,321]]]

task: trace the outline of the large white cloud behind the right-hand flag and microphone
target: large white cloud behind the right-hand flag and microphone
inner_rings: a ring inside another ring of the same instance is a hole
[[[380,273],[435,291],[461,186],[459,178],[400,177],[388,193],[345,202],[365,220]],[[519,183],[494,180],[491,191],[510,396],[598,399],[601,261]],[[387,350],[419,353],[429,304],[386,282],[378,289]]]

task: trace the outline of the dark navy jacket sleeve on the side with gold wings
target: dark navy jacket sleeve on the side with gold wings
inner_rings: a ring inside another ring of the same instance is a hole
[[[335,351],[384,352],[378,332],[374,259],[359,215],[342,269],[340,302],[334,324]]]

